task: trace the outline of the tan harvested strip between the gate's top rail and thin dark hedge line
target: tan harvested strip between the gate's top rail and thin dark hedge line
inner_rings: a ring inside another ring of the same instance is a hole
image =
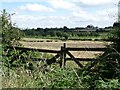
[[[66,42],[24,42],[21,43],[25,47],[41,48],[41,49],[57,49],[59,50],[63,43],[67,44],[67,47],[105,47],[108,45],[108,42],[99,42],[99,41],[66,41]]]

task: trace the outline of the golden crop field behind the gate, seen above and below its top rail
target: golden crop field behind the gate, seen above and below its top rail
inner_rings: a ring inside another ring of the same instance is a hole
[[[103,42],[103,41],[60,41],[57,42],[55,40],[52,40],[51,42],[47,42],[47,40],[50,41],[50,39],[35,39],[35,38],[25,38],[25,41],[20,41],[24,47],[29,48],[39,48],[39,49],[49,49],[49,50],[60,50],[61,46],[63,46],[64,43],[66,43],[67,47],[85,47],[85,48],[94,48],[94,47],[105,47],[105,45],[108,45],[109,42]],[[42,42],[36,42],[36,41],[42,41]],[[34,41],[34,42],[33,42]],[[76,57],[95,57],[97,54],[100,54],[101,52],[88,52],[86,51],[72,51],[71,52]]]

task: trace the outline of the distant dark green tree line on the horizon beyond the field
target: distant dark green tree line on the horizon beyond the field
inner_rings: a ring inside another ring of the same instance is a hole
[[[64,39],[68,39],[68,37],[72,37],[72,36],[78,36],[78,37],[80,37],[80,36],[99,36],[99,32],[106,32],[104,30],[104,28],[98,28],[98,27],[92,27],[92,28],[93,29],[86,29],[84,27],[68,28],[67,26],[64,26],[62,28],[24,29],[24,30],[22,30],[22,32],[25,34],[25,36],[33,36],[33,37],[48,36],[48,37],[59,37],[59,38],[64,38]],[[109,29],[111,29],[111,28],[109,28]],[[108,31],[109,30],[107,30],[107,32]]]

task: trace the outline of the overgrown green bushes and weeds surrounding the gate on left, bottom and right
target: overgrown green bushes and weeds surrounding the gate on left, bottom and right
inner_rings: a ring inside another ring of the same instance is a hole
[[[10,51],[6,46],[19,45],[20,31],[13,26],[11,14],[3,10],[2,18],[2,85],[3,88],[106,88],[120,89],[120,27],[113,29],[110,38],[113,43],[108,46],[96,61],[84,68],[59,68],[56,63],[40,68],[46,58],[52,55],[28,52],[20,55],[20,51]],[[15,32],[14,32],[15,31]],[[19,54],[19,58],[14,58]],[[11,56],[10,56],[11,55]],[[33,62],[22,56],[41,57],[44,60]]]

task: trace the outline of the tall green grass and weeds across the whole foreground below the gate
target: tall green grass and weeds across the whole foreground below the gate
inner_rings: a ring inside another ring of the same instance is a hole
[[[24,67],[9,69],[3,67],[2,86],[4,88],[118,88],[118,79],[102,80],[99,74],[74,68],[59,68],[56,64],[51,67],[30,71]]]

